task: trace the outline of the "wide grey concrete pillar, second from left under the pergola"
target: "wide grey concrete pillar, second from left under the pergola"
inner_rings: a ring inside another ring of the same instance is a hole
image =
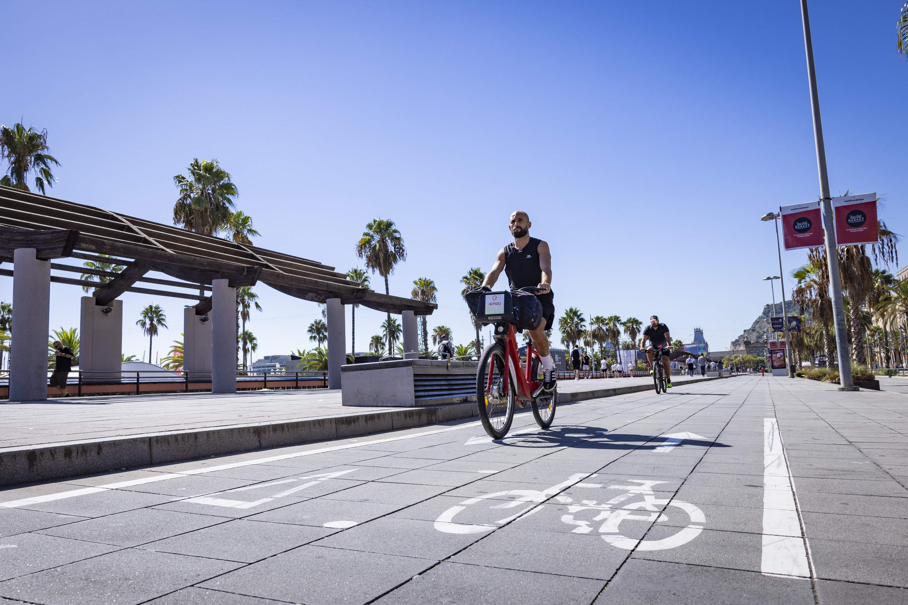
[[[107,311],[104,313],[104,311]],[[79,369],[85,382],[120,377],[123,359],[123,301],[106,307],[94,304],[94,297],[82,297],[79,320]],[[104,370],[104,374],[98,372]],[[108,372],[115,370],[115,372]]]

